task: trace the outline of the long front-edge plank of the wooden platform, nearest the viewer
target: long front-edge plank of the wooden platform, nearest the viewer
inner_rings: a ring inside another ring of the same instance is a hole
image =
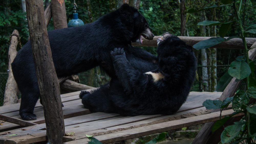
[[[234,111],[232,109],[224,110],[224,111],[222,111],[222,117],[224,117],[226,115],[230,115],[233,112]],[[194,116],[194,117],[190,117],[190,118],[168,121],[168,122],[164,122],[164,123],[160,123],[160,124],[154,124],[154,125],[150,125],[150,126],[122,130],[122,131],[113,132],[113,133],[109,133],[109,134],[105,134],[105,135],[94,136],[94,137],[96,139],[100,140],[102,143],[111,143],[111,142],[131,139],[131,138],[135,138],[135,137],[156,134],[159,132],[173,130],[173,129],[177,129],[177,128],[198,125],[198,124],[207,123],[210,121],[216,121],[220,118],[219,116],[220,116],[220,112],[215,112],[215,113],[210,113],[210,114],[205,114],[205,115],[200,115],[200,116]],[[238,116],[238,115],[236,115],[236,116]],[[88,141],[89,141],[88,138],[84,138],[84,139],[78,139],[78,140],[74,140],[74,141],[70,141],[70,142],[65,142],[65,144],[75,144],[75,143],[87,144]]]

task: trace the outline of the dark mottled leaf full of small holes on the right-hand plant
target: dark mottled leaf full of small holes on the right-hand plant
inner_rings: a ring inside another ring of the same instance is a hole
[[[238,92],[232,101],[232,108],[235,112],[242,112],[244,110],[243,105],[249,103],[249,96],[247,92],[240,91]]]

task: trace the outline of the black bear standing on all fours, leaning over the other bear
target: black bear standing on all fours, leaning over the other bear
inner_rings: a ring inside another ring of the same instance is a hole
[[[48,36],[58,77],[70,76],[97,65],[111,77],[116,77],[110,56],[115,47],[123,47],[133,67],[142,72],[152,65],[157,66],[155,56],[131,46],[131,41],[142,43],[142,36],[152,40],[154,35],[146,19],[128,4],[93,23],[48,31]],[[12,70],[22,94],[19,114],[24,120],[36,119],[33,111],[40,93],[30,41],[18,52]]]

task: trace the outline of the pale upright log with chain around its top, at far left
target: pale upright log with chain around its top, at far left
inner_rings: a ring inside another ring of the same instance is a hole
[[[17,97],[17,91],[18,91],[18,86],[17,83],[13,77],[13,71],[12,71],[12,66],[11,63],[13,62],[14,58],[17,55],[17,45],[18,45],[18,37],[19,32],[15,29],[12,33],[11,37],[11,43],[9,46],[9,51],[8,51],[8,69],[9,69],[9,75],[8,79],[5,85],[5,92],[4,92],[4,104],[3,105],[10,105],[10,104],[15,104],[18,102],[18,97]],[[15,36],[17,35],[17,36]]]

